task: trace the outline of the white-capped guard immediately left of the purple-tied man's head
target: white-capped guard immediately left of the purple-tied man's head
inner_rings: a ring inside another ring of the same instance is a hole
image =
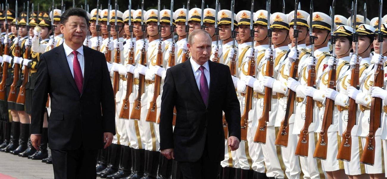
[[[182,62],[183,58],[183,51],[187,51],[187,33],[185,33],[185,19],[186,19],[186,14],[187,9],[177,9],[173,13],[173,19],[175,20],[176,23],[176,34],[178,35],[178,40],[176,41],[176,50],[177,53],[175,53],[175,59],[176,63],[180,64]]]

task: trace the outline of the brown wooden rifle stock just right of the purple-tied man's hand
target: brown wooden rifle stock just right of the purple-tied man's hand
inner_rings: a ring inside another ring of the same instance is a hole
[[[252,47],[253,48],[253,47]],[[254,56],[254,55],[253,55]],[[249,76],[255,76],[255,59],[254,57],[250,58],[248,62],[248,70],[247,74]],[[252,108],[253,101],[253,88],[250,86],[246,86],[246,96],[245,96],[245,110],[243,110],[243,114],[241,116],[241,140],[247,141],[247,127],[248,127],[248,112]]]

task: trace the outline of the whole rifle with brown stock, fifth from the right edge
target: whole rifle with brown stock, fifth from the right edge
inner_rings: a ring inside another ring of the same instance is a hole
[[[298,11],[298,0],[295,0],[295,7],[294,7],[294,25],[293,25],[293,37],[295,38],[295,49],[298,49],[298,33],[300,32],[297,29],[297,11]],[[296,60],[291,62],[291,67],[290,67],[290,73],[289,77],[298,80],[298,62],[300,59],[298,58],[298,53]],[[276,145],[278,146],[283,146],[283,147],[288,147],[288,139],[289,139],[289,128],[288,128],[288,122],[292,114],[295,114],[295,102],[296,102],[296,92],[286,89],[285,94],[288,94],[288,100],[286,103],[286,112],[285,112],[285,117],[281,121],[281,126],[279,127],[279,133],[277,134],[276,138]]]

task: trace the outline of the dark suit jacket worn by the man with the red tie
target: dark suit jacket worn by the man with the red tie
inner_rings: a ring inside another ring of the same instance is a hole
[[[103,133],[115,134],[115,102],[103,53],[83,46],[82,93],[75,85],[63,44],[40,55],[32,102],[31,134],[41,134],[47,94],[51,98],[48,143],[54,150],[103,147]]]

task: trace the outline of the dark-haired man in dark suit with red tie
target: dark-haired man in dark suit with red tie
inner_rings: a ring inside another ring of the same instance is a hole
[[[115,134],[113,88],[103,53],[83,46],[83,9],[62,14],[65,42],[40,56],[33,96],[31,142],[38,149],[47,94],[48,141],[55,179],[96,178],[96,153]]]

